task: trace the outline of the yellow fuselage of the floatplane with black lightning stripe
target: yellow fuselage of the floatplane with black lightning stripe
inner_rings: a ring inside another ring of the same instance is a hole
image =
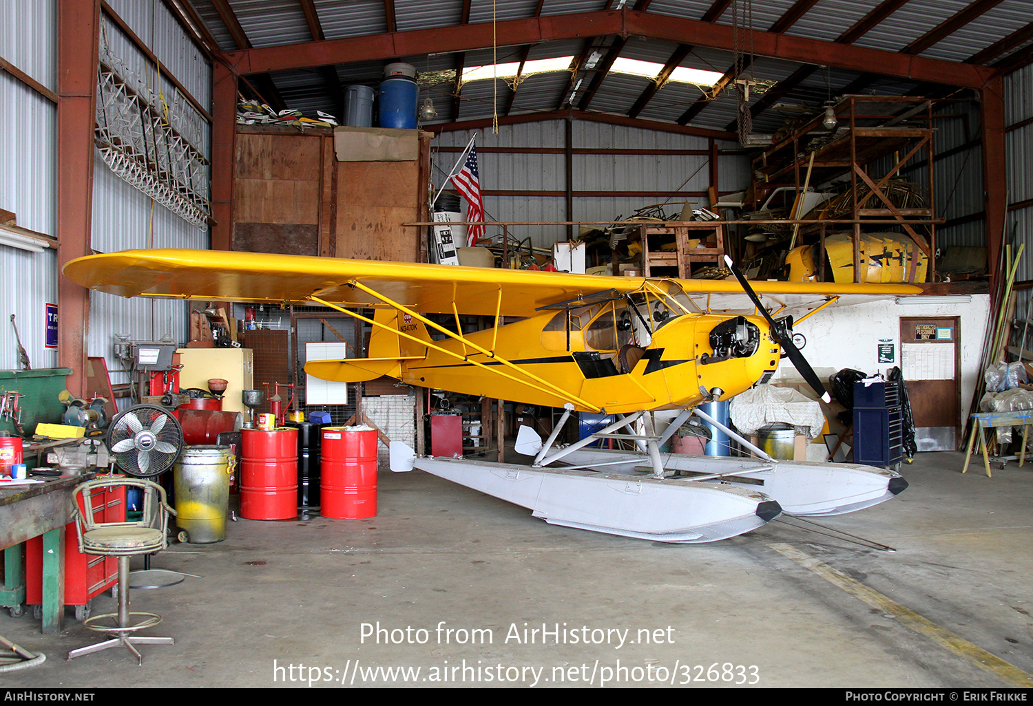
[[[634,327],[622,328],[619,310],[596,312],[574,325],[565,325],[568,314],[546,313],[498,329],[463,333],[470,344],[495,351],[520,370],[453,339],[435,345],[464,359],[403,341],[404,355],[426,352],[426,357],[403,361],[401,380],[529,405],[571,403],[577,411],[595,408],[622,414],[691,407],[710,398],[715,388],[722,390],[721,398],[730,397],[778,367],[779,346],[759,316],[682,314],[636,336]],[[744,342],[739,350],[728,351],[715,345],[747,329],[753,339],[749,346]],[[636,345],[636,338],[648,343]]]

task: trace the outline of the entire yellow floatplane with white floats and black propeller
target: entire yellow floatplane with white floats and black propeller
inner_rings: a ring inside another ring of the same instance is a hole
[[[732,271],[735,281],[615,278],[193,250],[92,255],[64,268],[83,286],[122,296],[320,306],[373,327],[369,357],[307,363],[306,373],[318,378],[359,382],[386,375],[432,389],[563,408],[550,440],[526,432],[518,439],[535,455],[532,467],[415,458],[411,450],[392,449],[393,470],[419,468],[555,524],[703,542],[748,532],[783,510],[835,514],[900,492],[906,483],[889,471],[840,464],[829,482],[834,464],[775,461],[759,449],[759,464],[661,459],[665,438],[655,432],[653,412],[703,416],[698,405],[765,380],[783,354],[826,394],[792,343],[793,317],[799,322],[834,303],[920,291],[910,285],[751,286]],[[486,324],[463,330],[461,316],[470,315]],[[617,415],[600,434],[627,429],[624,439],[637,451],[606,456],[581,443],[549,455],[572,412]],[[580,466],[545,468],[563,458]],[[769,488],[780,496],[766,494]]]

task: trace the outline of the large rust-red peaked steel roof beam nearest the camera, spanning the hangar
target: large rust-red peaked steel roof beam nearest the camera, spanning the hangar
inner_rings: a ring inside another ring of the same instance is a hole
[[[602,10],[507,20],[496,25],[507,45],[530,44],[585,36],[636,35],[697,46],[731,51],[732,28],[636,10]],[[753,54],[786,61],[822,64],[913,81],[979,88],[994,71],[983,66],[903,55],[774,32],[752,32]],[[284,44],[230,53],[244,74],[281,71],[327,63],[347,64],[400,56],[467,52],[493,45],[492,23],[388,32],[301,44]]]

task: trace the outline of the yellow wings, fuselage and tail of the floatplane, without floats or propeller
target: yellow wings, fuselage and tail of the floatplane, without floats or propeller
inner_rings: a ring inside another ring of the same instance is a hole
[[[66,264],[64,274],[121,296],[328,307],[373,327],[369,357],[310,362],[310,375],[345,382],[389,375],[578,411],[725,399],[774,372],[780,356],[778,336],[734,281],[194,250],[91,255]],[[907,285],[753,285],[765,309],[797,320],[833,301],[920,292]],[[367,309],[376,310],[372,318]],[[460,331],[460,315],[488,323]]]

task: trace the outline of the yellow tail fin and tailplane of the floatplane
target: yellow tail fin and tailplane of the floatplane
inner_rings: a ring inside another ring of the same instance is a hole
[[[426,357],[426,346],[419,346],[397,333],[402,331],[430,341],[427,327],[420,321],[393,309],[376,310],[373,320],[388,328],[373,327],[370,334],[370,357],[313,360],[305,363],[305,372],[314,378],[337,382],[366,382],[382,376],[401,378],[403,360]]]

